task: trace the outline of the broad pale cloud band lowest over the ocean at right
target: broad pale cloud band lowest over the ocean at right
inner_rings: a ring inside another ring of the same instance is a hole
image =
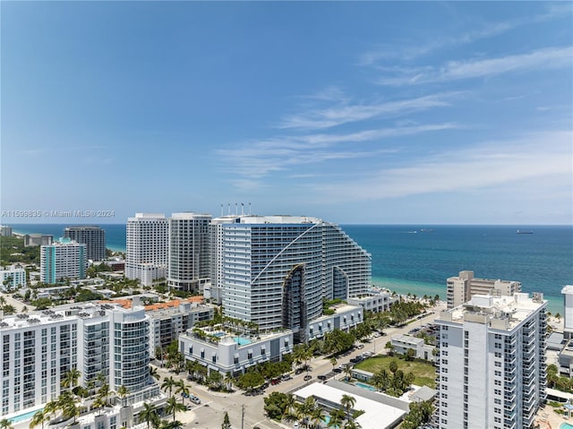
[[[485,189],[535,177],[559,177],[562,183],[564,175],[570,180],[573,174],[572,139],[573,133],[564,131],[485,142],[470,149],[419,159],[408,167],[379,170],[365,179],[347,178],[344,183],[315,187],[330,202],[347,202]]]

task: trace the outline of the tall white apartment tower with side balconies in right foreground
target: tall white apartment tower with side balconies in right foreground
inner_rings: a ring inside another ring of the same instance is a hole
[[[440,313],[440,429],[534,427],[545,399],[543,294],[475,295]]]

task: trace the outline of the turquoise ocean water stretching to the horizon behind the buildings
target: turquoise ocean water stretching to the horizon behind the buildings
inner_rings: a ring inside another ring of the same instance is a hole
[[[18,233],[63,236],[66,225],[13,225]],[[125,250],[125,225],[101,225],[106,245]],[[461,270],[475,277],[517,280],[543,292],[552,313],[563,313],[561,287],[573,284],[573,227],[342,225],[372,254],[372,282],[399,294],[440,295]],[[516,234],[532,231],[533,234]]]

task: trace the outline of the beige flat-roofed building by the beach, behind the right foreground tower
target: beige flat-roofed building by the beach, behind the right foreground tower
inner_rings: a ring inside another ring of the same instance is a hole
[[[450,277],[448,287],[448,308],[454,308],[469,301],[475,295],[513,296],[521,292],[521,283],[512,280],[478,279],[474,271],[460,271],[458,277]]]

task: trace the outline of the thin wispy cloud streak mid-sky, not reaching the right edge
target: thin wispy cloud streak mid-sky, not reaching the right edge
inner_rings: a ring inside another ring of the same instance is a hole
[[[371,104],[344,104],[342,106],[309,109],[301,114],[286,116],[278,124],[278,128],[321,130],[377,117],[401,116],[432,107],[449,106],[449,100],[458,94],[457,92],[446,92],[415,99],[398,99]]]

